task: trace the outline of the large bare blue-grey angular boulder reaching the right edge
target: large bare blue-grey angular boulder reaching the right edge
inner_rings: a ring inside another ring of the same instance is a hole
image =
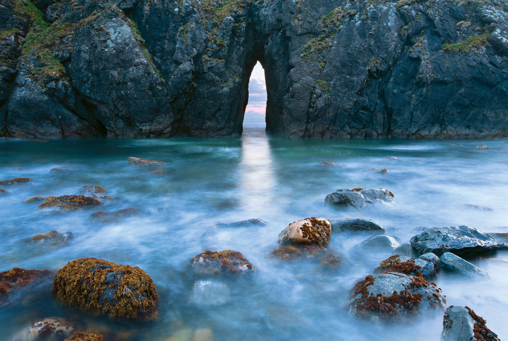
[[[441,256],[444,252],[451,252],[466,257],[508,247],[491,235],[469,226],[427,228],[411,238],[411,246],[420,254],[432,252]]]

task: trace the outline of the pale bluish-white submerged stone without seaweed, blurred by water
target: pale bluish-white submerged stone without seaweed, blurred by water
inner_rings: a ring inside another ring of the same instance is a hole
[[[229,299],[228,285],[217,281],[197,281],[190,293],[190,301],[196,305],[221,305],[228,302]]]

